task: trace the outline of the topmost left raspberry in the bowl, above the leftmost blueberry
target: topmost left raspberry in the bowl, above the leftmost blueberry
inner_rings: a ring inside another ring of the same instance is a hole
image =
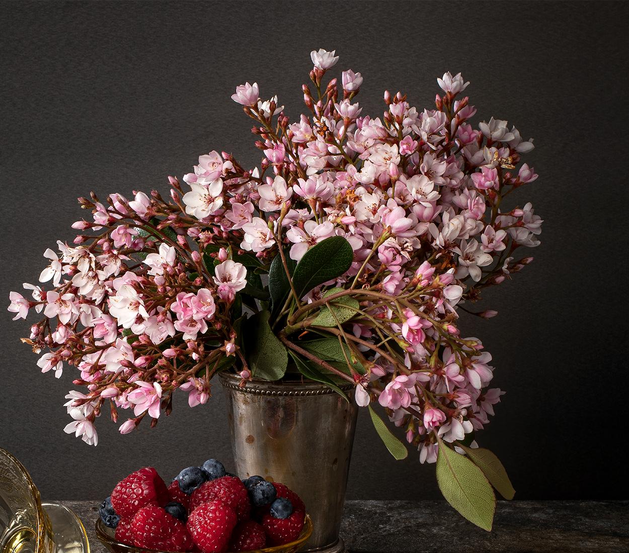
[[[155,501],[165,505],[170,501],[164,480],[153,467],[145,467],[129,474],[111,492],[111,505],[123,518],[130,518],[140,508]]]

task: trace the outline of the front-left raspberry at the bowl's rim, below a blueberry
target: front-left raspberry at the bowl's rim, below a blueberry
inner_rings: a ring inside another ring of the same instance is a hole
[[[133,544],[161,551],[186,551],[192,538],[186,525],[156,505],[142,507],[131,521]]]

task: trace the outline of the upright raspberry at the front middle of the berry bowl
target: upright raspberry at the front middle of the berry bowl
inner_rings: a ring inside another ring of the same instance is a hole
[[[226,551],[237,520],[236,512],[223,501],[208,501],[192,511],[187,528],[203,553]]]

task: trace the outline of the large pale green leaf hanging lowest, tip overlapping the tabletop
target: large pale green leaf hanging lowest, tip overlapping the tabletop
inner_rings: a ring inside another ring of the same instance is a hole
[[[491,531],[496,496],[481,469],[437,438],[437,483],[443,497],[467,520]]]

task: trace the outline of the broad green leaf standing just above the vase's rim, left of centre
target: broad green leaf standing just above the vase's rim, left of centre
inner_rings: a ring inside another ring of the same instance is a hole
[[[251,373],[263,380],[279,380],[286,373],[288,353],[269,326],[267,310],[243,323],[243,339]]]

